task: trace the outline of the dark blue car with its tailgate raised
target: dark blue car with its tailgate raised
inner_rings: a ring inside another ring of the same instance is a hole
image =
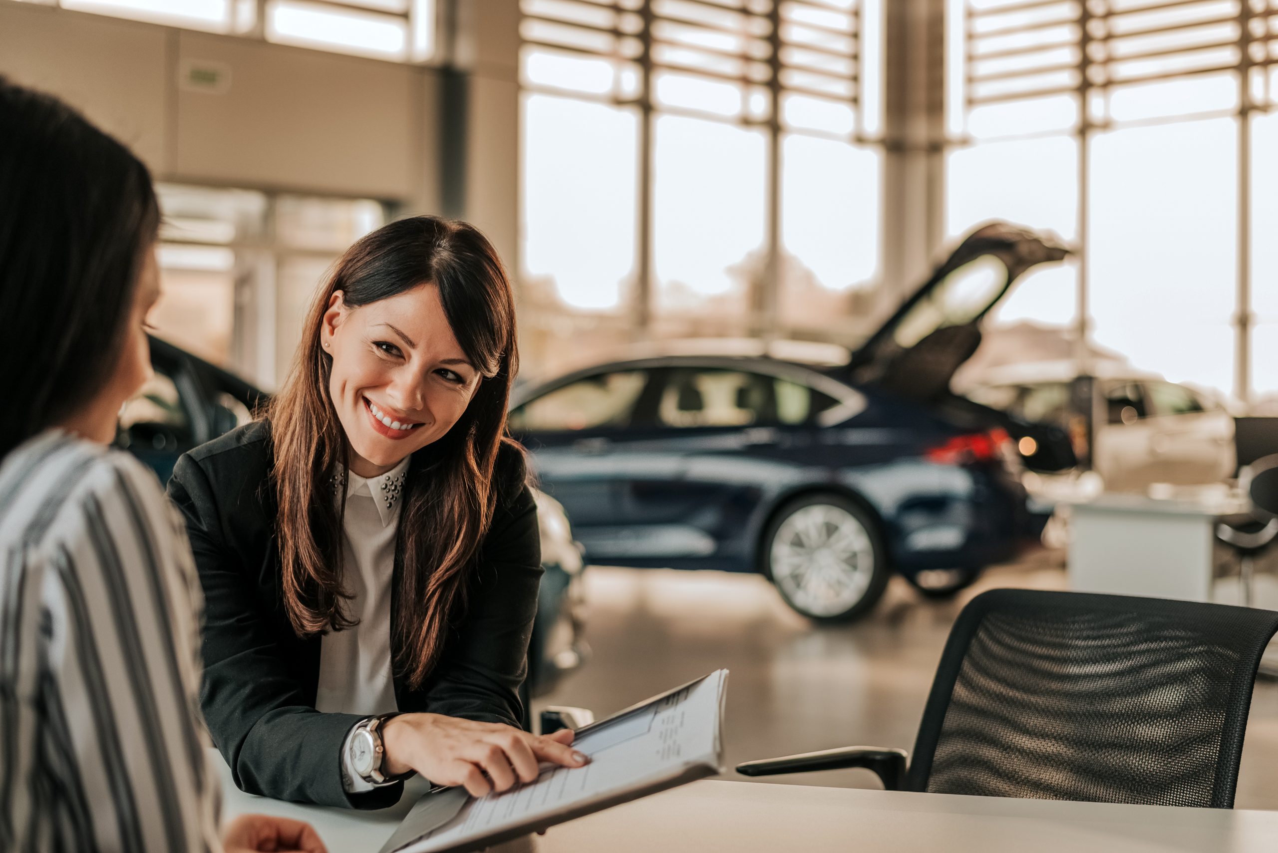
[[[982,318],[1063,248],[973,234],[843,364],[668,354],[516,392],[533,452],[592,563],[763,572],[797,612],[850,619],[892,572],[929,595],[1035,539],[1024,466],[1067,467],[1065,433],[950,393]]]

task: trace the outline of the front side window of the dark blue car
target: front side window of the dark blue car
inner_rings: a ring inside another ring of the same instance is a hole
[[[647,383],[647,370],[617,370],[578,379],[511,411],[510,432],[555,433],[625,426]]]

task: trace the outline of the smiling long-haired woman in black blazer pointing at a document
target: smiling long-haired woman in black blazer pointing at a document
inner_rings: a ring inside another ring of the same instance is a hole
[[[265,419],[178,461],[204,715],[244,790],[376,808],[414,771],[482,796],[585,762],[519,728],[541,545],[516,369],[488,240],[400,220],[320,287]]]

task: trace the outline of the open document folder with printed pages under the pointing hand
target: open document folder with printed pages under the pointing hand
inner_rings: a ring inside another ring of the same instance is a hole
[[[478,799],[465,788],[422,797],[381,853],[478,850],[721,770],[727,670],[578,729],[584,767],[542,765],[535,781]]]

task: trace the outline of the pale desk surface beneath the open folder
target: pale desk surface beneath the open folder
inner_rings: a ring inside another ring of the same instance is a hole
[[[226,815],[307,820],[331,853],[377,853],[412,806],[382,812],[240,793],[221,759]],[[492,848],[492,853],[1269,853],[1278,812],[695,781]]]

